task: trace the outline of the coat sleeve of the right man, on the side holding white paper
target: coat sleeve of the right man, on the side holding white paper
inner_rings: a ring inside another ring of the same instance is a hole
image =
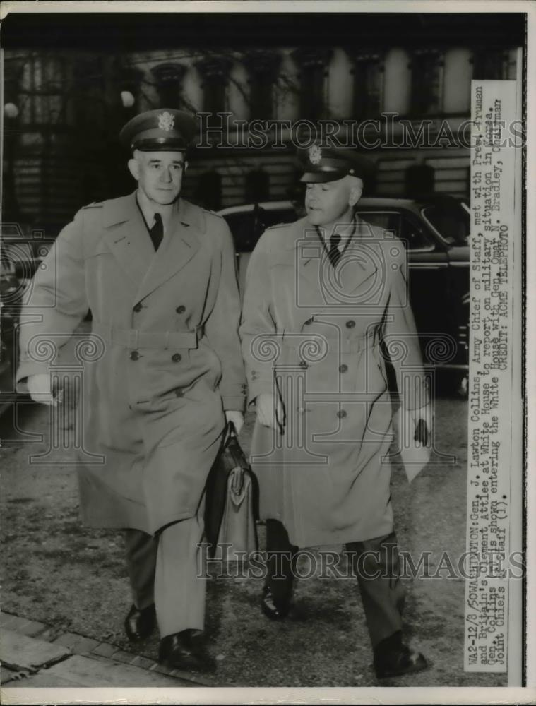
[[[409,410],[421,409],[429,402],[429,390],[410,305],[407,257],[402,243],[398,256],[388,266],[392,275],[383,337],[395,369],[400,404]]]

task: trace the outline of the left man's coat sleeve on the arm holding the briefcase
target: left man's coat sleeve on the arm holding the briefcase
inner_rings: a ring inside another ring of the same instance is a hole
[[[237,265],[232,235],[225,220],[217,218],[215,228],[220,235],[220,277],[215,292],[215,304],[205,322],[205,334],[210,347],[222,362],[219,389],[223,408],[243,410],[246,399],[246,376],[240,351],[240,295]]]

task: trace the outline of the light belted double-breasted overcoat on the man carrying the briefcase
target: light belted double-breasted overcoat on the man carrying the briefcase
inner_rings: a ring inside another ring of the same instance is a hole
[[[19,381],[49,371],[43,342],[64,344],[88,308],[81,514],[92,526],[154,533],[196,514],[224,410],[244,405],[225,220],[181,198],[155,252],[135,194],[78,211],[35,275]]]

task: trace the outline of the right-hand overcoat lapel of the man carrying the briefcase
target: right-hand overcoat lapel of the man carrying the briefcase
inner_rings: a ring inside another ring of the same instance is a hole
[[[150,267],[138,289],[138,299],[147,297],[189,263],[201,246],[200,236],[204,229],[203,212],[179,199],[168,232],[156,253],[153,251]]]

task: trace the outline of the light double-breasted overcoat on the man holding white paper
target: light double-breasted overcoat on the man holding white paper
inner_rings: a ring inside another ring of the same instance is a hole
[[[407,296],[403,243],[363,221],[335,268],[306,217],[268,229],[252,253],[240,328],[249,400],[275,391],[285,428],[257,421],[251,462],[261,517],[297,546],[393,529],[383,346],[402,404],[427,402]]]

